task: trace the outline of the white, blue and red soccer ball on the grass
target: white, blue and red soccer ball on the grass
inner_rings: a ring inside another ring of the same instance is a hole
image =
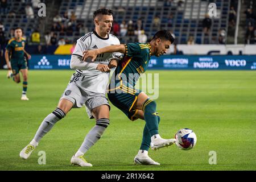
[[[191,150],[196,145],[196,134],[191,129],[180,129],[175,138],[176,146],[181,150]]]

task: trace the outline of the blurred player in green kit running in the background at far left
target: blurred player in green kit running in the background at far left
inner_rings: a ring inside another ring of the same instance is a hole
[[[28,100],[27,98],[27,78],[28,78],[28,67],[27,60],[25,59],[25,54],[28,59],[31,56],[25,51],[26,40],[22,38],[22,28],[15,28],[14,38],[10,39],[5,51],[5,60],[8,68],[7,77],[13,77],[16,83],[20,82],[19,71],[22,73],[23,77],[23,90],[21,100]]]

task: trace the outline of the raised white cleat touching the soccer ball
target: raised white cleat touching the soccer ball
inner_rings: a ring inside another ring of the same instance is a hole
[[[176,139],[163,139],[160,135],[154,135],[151,137],[150,146],[152,150],[158,150],[159,148],[171,146],[176,142]]]

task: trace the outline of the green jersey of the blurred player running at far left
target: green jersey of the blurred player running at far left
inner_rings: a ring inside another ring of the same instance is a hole
[[[18,42],[15,38],[9,40],[6,49],[11,53],[11,60],[24,60],[25,39],[21,38]]]

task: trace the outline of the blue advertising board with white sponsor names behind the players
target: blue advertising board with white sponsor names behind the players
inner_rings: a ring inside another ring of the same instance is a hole
[[[32,55],[30,69],[70,69],[70,55]],[[152,56],[148,69],[256,70],[256,55],[164,55]]]

